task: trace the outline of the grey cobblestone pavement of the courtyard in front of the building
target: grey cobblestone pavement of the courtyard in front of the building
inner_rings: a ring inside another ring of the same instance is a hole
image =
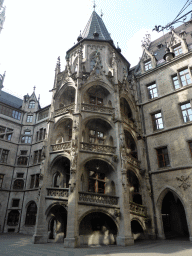
[[[0,234],[0,256],[192,256],[192,243],[187,240],[141,241],[133,246],[104,246],[66,249],[63,244],[32,244],[32,237]]]

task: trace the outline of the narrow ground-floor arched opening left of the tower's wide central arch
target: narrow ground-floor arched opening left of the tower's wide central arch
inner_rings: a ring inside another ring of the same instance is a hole
[[[49,242],[63,243],[67,231],[67,211],[62,205],[53,206],[48,214]]]

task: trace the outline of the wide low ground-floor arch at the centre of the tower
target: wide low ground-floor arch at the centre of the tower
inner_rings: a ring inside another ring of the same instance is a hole
[[[93,212],[82,219],[79,235],[81,245],[116,244],[117,226],[107,214]]]

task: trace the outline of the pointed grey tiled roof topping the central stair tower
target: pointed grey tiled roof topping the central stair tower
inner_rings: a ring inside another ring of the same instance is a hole
[[[99,15],[93,11],[84,31],[82,34],[83,39],[95,39],[94,33],[97,32],[99,36],[98,40],[112,40],[109,32],[107,31],[103,20],[99,17]]]

